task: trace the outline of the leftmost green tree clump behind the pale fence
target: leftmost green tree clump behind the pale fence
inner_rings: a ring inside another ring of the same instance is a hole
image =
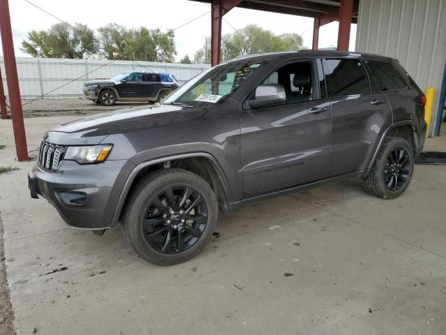
[[[23,52],[33,57],[82,59],[98,52],[94,31],[85,24],[53,24],[47,31],[30,31],[22,41]]]

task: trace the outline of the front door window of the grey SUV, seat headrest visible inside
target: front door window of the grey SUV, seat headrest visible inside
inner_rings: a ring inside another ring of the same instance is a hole
[[[299,103],[314,98],[313,65],[309,61],[287,64],[272,73],[263,85],[282,85],[285,89],[286,103]]]

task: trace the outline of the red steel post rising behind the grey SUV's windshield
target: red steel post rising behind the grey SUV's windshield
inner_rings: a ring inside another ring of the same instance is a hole
[[[210,4],[210,65],[220,64],[220,49],[222,45],[223,15],[236,7],[242,0],[212,0]]]

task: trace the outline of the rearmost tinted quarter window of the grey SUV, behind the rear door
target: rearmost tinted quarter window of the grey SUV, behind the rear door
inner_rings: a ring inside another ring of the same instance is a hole
[[[367,61],[371,74],[374,75],[379,91],[393,91],[395,89],[407,89],[401,75],[389,63],[383,61]]]

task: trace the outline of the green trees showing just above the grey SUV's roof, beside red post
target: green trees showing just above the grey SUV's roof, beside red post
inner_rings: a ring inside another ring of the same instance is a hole
[[[228,61],[242,54],[301,50],[302,44],[303,38],[299,34],[276,35],[256,24],[249,24],[234,34],[222,36],[221,61]],[[203,63],[204,49],[205,47],[195,53],[196,62],[198,59],[199,63]]]

